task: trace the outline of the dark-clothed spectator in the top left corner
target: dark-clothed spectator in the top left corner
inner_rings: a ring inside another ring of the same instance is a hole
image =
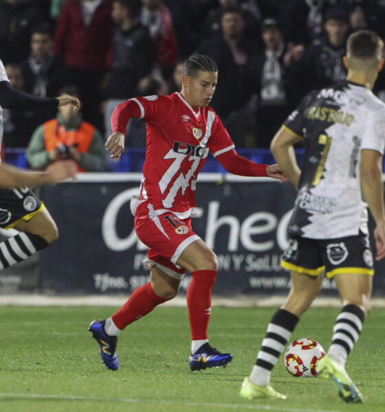
[[[0,57],[4,65],[28,58],[32,27],[42,22],[43,16],[33,1],[0,1]]]

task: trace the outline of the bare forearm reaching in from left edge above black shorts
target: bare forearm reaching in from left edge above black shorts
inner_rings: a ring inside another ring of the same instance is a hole
[[[0,163],[0,187],[12,189],[23,186],[41,186],[47,183],[58,183],[69,177],[74,178],[76,163],[74,161],[58,161],[47,168],[46,172],[30,172]]]

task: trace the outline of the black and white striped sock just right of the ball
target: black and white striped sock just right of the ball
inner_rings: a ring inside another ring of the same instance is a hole
[[[360,337],[365,314],[360,306],[349,304],[342,308],[333,328],[333,339],[328,354],[345,365],[347,357]]]

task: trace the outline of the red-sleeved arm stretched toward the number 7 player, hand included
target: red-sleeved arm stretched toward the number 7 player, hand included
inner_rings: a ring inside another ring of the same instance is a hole
[[[281,170],[279,170],[278,165],[254,163],[254,161],[238,155],[234,149],[228,150],[221,155],[217,155],[216,158],[223,168],[232,174],[238,174],[239,176],[272,177],[274,179],[281,179],[282,182],[286,181],[286,178]]]

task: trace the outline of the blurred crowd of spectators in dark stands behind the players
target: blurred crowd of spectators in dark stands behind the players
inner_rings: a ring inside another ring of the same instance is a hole
[[[99,154],[113,108],[180,91],[183,60],[198,52],[217,62],[211,106],[236,146],[267,148],[305,93],[345,78],[346,39],[360,29],[384,38],[385,0],[0,0],[12,87],[37,96],[72,87],[83,104],[71,122],[60,112],[4,111],[5,147],[31,145],[30,163],[43,168],[36,148],[49,151],[50,130],[90,125],[87,150]],[[385,73],[375,93],[385,100]],[[145,146],[141,121],[129,123],[126,145]],[[81,168],[102,170],[95,162]]]

